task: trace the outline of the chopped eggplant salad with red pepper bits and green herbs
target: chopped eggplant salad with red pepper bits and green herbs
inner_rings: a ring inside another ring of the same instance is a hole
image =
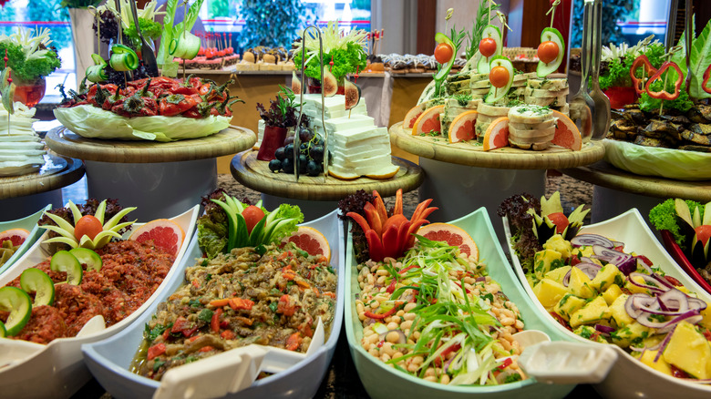
[[[318,318],[335,315],[335,271],[294,243],[233,249],[186,269],[186,284],[146,324],[131,371],[160,380],[172,367],[251,343],[305,353]]]

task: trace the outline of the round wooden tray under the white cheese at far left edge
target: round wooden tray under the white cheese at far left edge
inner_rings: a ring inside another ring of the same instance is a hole
[[[84,165],[79,159],[56,154],[47,154],[45,159],[45,167],[38,173],[0,178],[0,200],[62,189],[84,176]],[[54,167],[47,168],[49,165]]]

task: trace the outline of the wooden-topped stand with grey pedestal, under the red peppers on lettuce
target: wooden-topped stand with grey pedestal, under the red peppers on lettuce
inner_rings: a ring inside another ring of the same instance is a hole
[[[170,143],[82,138],[64,127],[46,135],[49,148],[84,161],[89,198],[136,206],[138,220],[167,218],[200,203],[217,188],[215,159],[254,142],[252,130],[234,126]]]

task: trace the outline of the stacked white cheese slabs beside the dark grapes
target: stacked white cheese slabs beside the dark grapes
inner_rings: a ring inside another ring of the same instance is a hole
[[[331,152],[329,175],[337,179],[387,179],[397,173],[399,167],[392,163],[387,129],[377,128],[373,118],[331,118],[325,126]]]

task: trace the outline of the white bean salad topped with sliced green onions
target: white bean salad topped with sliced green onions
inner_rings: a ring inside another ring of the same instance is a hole
[[[404,373],[453,385],[525,379],[513,338],[519,309],[485,265],[458,247],[419,238],[404,258],[358,265],[363,348]]]

